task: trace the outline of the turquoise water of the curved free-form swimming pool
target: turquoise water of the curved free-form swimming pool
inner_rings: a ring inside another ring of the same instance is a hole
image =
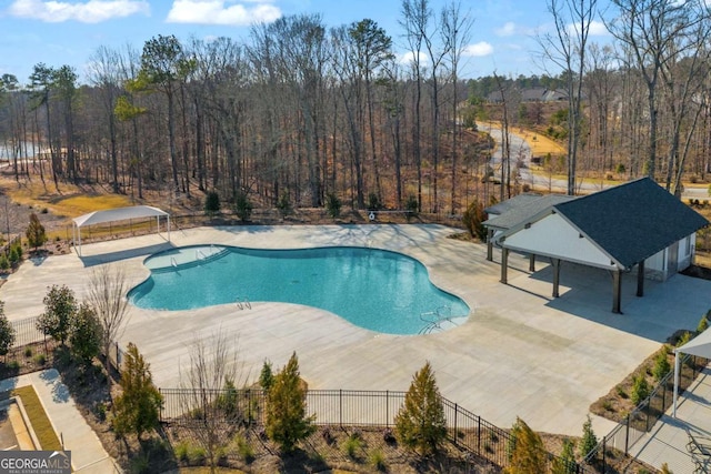
[[[181,248],[153,255],[146,265],[151,276],[129,293],[144,309],[297,303],[390,334],[439,331],[469,315],[467,303],[434,286],[419,261],[383,250]]]

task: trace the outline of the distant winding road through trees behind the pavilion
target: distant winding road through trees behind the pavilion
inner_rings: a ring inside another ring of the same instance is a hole
[[[479,130],[488,132],[495,142],[495,149],[491,154],[489,164],[494,170],[494,175],[500,179],[503,157],[503,130],[491,123],[480,125]],[[519,182],[521,184],[528,183],[531,189],[548,190],[557,193],[565,193],[568,191],[568,181],[531,172],[531,145],[525,139],[509,132],[509,147],[511,149],[509,158],[511,161],[511,173],[515,173],[518,162],[523,163],[523,167],[519,169]],[[592,181],[585,181],[578,183],[577,185],[578,192],[582,194],[601,191],[603,188],[609,186],[610,184]],[[709,199],[711,201],[708,188],[684,186],[684,191],[681,196],[682,199]]]

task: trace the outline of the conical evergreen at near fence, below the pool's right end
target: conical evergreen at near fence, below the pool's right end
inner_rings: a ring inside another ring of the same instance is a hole
[[[447,437],[444,406],[429,362],[412,377],[395,416],[395,432],[404,446],[423,456],[437,452]]]

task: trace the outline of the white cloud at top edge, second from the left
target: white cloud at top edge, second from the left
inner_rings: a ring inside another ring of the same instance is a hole
[[[281,17],[281,10],[268,1],[242,0],[253,3],[229,6],[226,0],[176,0],[166,21],[169,23],[230,24],[234,27],[269,23]]]

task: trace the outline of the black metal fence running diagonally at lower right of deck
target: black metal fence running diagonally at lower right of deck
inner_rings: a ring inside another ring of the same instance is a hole
[[[709,360],[687,354],[680,362],[679,392],[685,391],[697,375],[708,365]],[[607,465],[614,448],[625,456],[669,410],[674,396],[673,370],[664,376],[652,393],[630,412],[607,436],[598,443],[584,460],[588,465]]]

